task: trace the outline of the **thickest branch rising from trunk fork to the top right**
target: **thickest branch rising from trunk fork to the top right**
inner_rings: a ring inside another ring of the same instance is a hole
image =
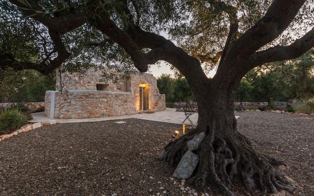
[[[228,75],[227,85],[239,81],[249,71],[246,69],[250,66],[248,58],[283,33],[304,2],[305,0],[274,0],[262,19],[229,47],[228,55],[213,79],[220,83]]]

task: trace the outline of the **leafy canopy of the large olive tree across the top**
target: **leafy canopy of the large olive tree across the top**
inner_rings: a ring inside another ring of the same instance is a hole
[[[84,71],[103,65],[130,70],[134,63],[139,71],[146,71],[149,64],[159,60],[173,63],[162,57],[158,46],[136,43],[138,40],[134,39],[144,36],[142,42],[153,42],[150,39],[157,36],[155,33],[166,31],[185,52],[203,62],[206,71],[217,67],[218,60],[226,53],[223,49],[239,38],[244,39],[242,35],[258,27],[257,22],[269,39],[256,47],[252,67],[293,58],[288,54],[300,44],[312,48],[313,2],[296,3],[293,7],[296,13],[290,13],[291,18],[288,15],[284,20],[278,18],[282,26],[273,35],[267,32],[275,26],[267,24],[277,25],[277,22],[265,21],[272,14],[268,9],[270,3],[269,0],[1,0],[1,69],[10,66],[16,71],[34,69],[48,74],[56,68]],[[274,9],[276,4],[280,1],[273,3]],[[283,11],[284,17],[288,10],[283,9],[278,10]],[[158,39],[166,42],[160,36]],[[270,59],[274,52],[280,52],[281,57]],[[184,73],[182,68],[179,70]]]

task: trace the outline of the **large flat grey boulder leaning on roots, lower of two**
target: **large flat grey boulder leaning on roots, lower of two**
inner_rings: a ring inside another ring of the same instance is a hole
[[[191,150],[187,150],[178,164],[173,176],[179,179],[187,179],[191,177],[199,162],[199,157]]]

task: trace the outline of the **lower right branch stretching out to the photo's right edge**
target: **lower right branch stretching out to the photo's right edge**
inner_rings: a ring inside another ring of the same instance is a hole
[[[260,66],[274,61],[283,61],[297,58],[314,47],[314,28],[300,39],[295,40],[288,46],[275,46],[256,52],[250,57],[250,67]]]

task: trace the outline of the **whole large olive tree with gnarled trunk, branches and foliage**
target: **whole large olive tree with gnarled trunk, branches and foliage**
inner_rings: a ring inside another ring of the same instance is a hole
[[[0,33],[11,39],[3,40],[0,66],[48,74],[61,66],[120,62],[117,68],[146,72],[165,61],[188,81],[199,119],[194,130],[164,147],[163,160],[176,166],[186,142],[205,132],[188,183],[199,190],[210,184],[228,196],[239,181],[263,192],[291,191],[275,168],[280,161],[255,150],[237,130],[234,99],[253,68],[297,58],[314,46],[313,15],[311,0],[8,0],[1,2]],[[21,33],[29,40],[16,36]],[[19,46],[36,59],[25,58]],[[216,74],[209,78],[212,68]]]

